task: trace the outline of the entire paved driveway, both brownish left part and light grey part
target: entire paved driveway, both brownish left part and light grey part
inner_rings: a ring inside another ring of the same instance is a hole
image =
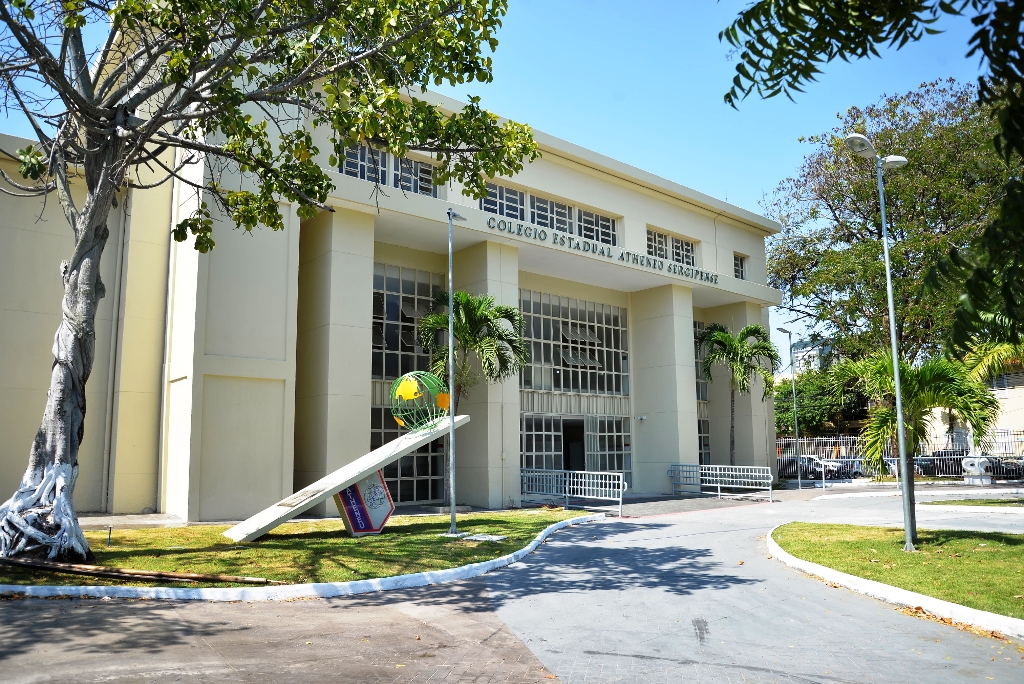
[[[1024,516],[984,509],[919,514],[923,526],[1024,531]],[[475,581],[350,599],[0,601],[0,681],[1024,681],[1016,645],[766,557],[780,522],[900,515],[883,497],[613,519]]]

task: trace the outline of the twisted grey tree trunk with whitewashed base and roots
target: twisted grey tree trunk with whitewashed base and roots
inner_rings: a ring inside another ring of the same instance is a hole
[[[85,385],[95,355],[95,318],[104,294],[99,258],[106,245],[106,219],[119,185],[113,173],[121,142],[89,140],[95,157],[85,164],[87,197],[75,213],[61,197],[75,228],[75,252],[60,263],[61,319],[53,336],[53,366],[43,420],[32,443],[29,467],[14,495],[0,505],[0,556],[91,559],[73,497],[78,451],[85,433]],[[91,163],[90,163],[91,162]]]

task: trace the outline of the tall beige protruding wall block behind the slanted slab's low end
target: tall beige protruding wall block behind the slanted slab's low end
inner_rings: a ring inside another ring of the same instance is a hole
[[[282,212],[281,231],[218,221],[209,254],[173,246],[162,504],[188,520],[292,493],[299,228]]]

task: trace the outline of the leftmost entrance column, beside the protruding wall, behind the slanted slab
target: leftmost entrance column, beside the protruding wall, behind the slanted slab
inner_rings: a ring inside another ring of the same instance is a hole
[[[295,488],[370,452],[374,217],[339,209],[302,224]],[[333,504],[313,509],[337,515]]]

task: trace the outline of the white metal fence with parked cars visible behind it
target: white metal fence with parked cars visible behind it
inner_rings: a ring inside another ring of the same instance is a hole
[[[1024,476],[1024,432],[996,430],[982,440],[980,455],[988,461],[986,474],[996,479]],[[963,477],[964,459],[971,454],[969,437],[963,430],[941,439],[922,441],[913,454],[913,469],[926,477]],[[863,438],[858,436],[802,437],[800,463],[793,437],[776,441],[778,477],[781,479],[849,479],[874,477],[882,473],[864,460]],[[899,477],[898,459],[892,448],[884,456],[886,475]]]

